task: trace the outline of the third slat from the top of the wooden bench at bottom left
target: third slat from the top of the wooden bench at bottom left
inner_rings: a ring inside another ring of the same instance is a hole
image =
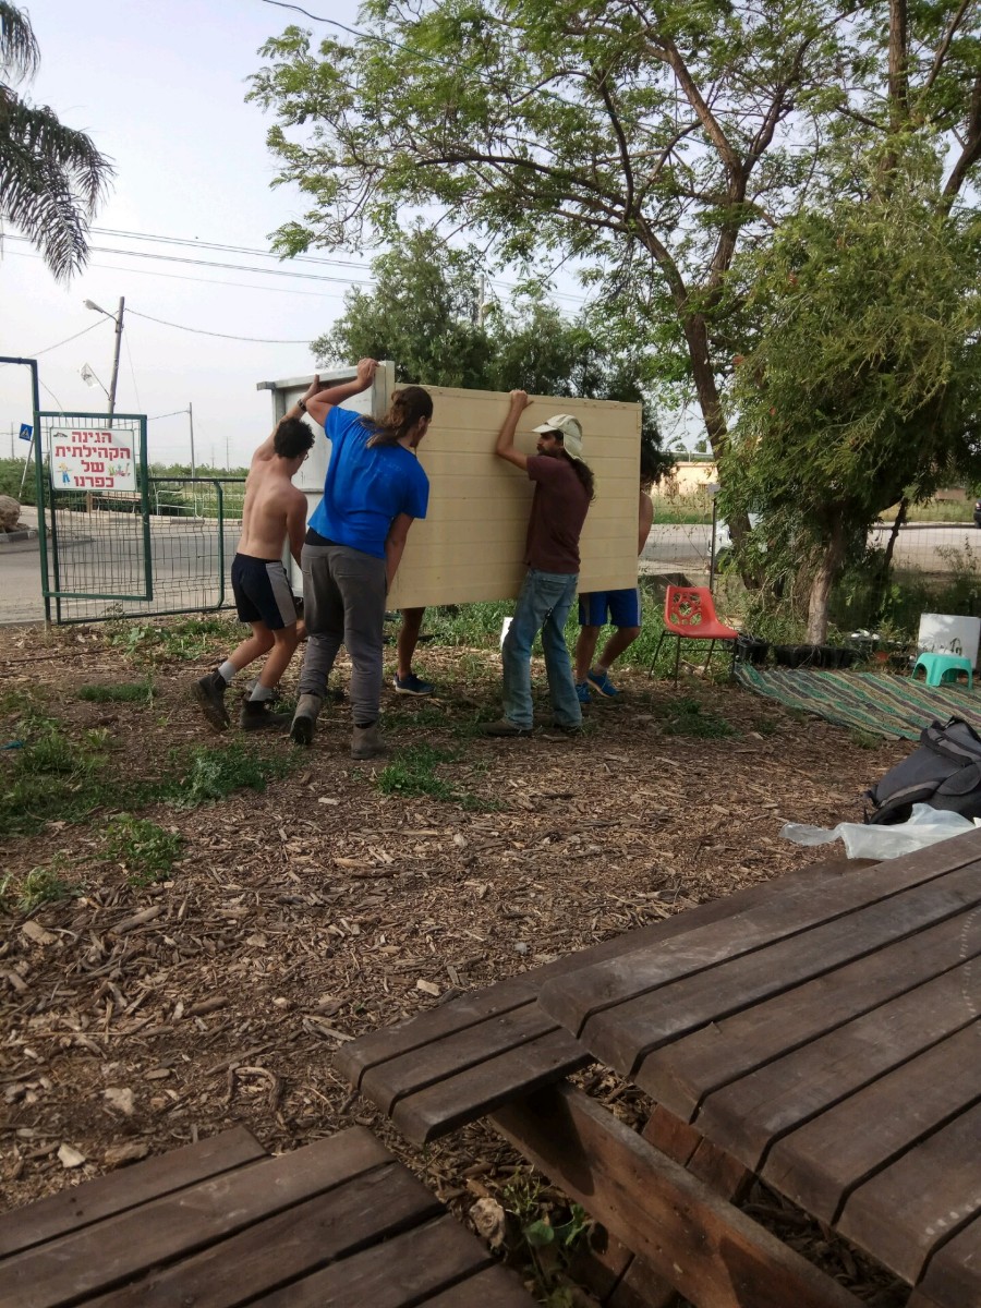
[[[273,1291],[275,1299],[279,1287],[285,1287],[284,1301],[292,1303],[293,1294],[298,1303],[328,1301],[302,1292],[297,1283],[305,1286],[315,1279],[310,1273],[335,1260],[341,1260],[339,1267],[347,1267],[348,1256],[365,1247],[387,1250],[388,1236],[404,1231],[415,1236],[421,1224],[442,1211],[436,1197],[392,1159],[387,1167],[256,1222],[170,1267],[154,1269],[119,1290],[86,1300],[86,1308],[238,1308],[267,1291]],[[470,1243],[476,1245],[472,1237]],[[382,1253],[382,1265],[396,1283],[402,1281],[402,1269],[390,1254]],[[347,1301],[373,1300],[352,1295]]]

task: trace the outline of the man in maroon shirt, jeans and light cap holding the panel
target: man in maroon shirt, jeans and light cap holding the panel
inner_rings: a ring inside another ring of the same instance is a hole
[[[511,391],[511,407],[494,449],[498,458],[527,472],[535,483],[535,497],[525,545],[528,572],[501,647],[504,717],[483,727],[484,735],[492,736],[531,732],[531,646],[539,632],[553,725],[561,731],[582,730],[582,708],[565,644],[565,619],[579,579],[579,534],[593,500],[593,472],[581,459],[582,428],[569,413],[557,413],[534,428],[539,437],[538,454],[515,450],[518,419],[530,403],[525,391]]]

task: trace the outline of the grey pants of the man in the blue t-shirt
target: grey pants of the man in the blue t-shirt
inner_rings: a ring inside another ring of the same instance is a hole
[[[382,697],[385,560],[347,545],[303,545],[303,619],[309,632],[300,693],[324,696],[341,642],[352,663],[354,722],[374,722]]]

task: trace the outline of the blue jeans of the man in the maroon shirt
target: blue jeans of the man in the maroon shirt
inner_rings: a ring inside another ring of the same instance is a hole
[[[542,632],[548,674],[548,697],[557,726],[582,723],[572,659],[565,644],[565,619],[576,596],[576,573],[543,573],[528,568],[511,625],[504,638],[504,715],[519,727],[532,725],[531,646]]]

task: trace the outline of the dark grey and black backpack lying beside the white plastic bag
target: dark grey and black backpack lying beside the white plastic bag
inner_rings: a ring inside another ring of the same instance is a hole
[[[981,818],[981,736],[961,718],[951,718],[923,727],[920,740],[918,749],[866,790],[872,812],[866,808],[865,820],[906,821],[913,804]]]

